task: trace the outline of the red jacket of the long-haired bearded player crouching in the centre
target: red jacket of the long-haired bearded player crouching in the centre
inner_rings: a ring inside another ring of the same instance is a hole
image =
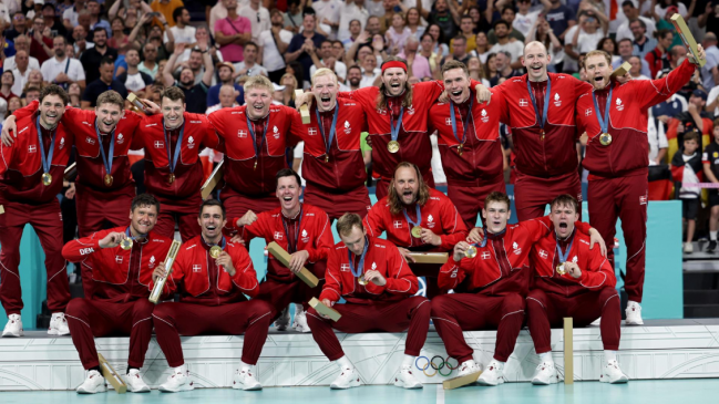
[[[414,205],[407,208],[410,219],[417,222]],[[367,234],[372,237],[379,237],[382,231],[387,231],[387,239],[398,247],[417,248],[429,247],[430,250],[448,251],[454,248],[459,241],[466,238],[466,226],[460,217],[454,204],[436,189],[430,188],[430,198],[421,207],[422,222],[420,226],[432,230],[442,239],[439,247],[424,245],[421,238],[412,237],[410,231],[412,225],[407,221],[402,213],[392,215],[388,205],[388,197],[382,198],[374,204],[364,217]]]

